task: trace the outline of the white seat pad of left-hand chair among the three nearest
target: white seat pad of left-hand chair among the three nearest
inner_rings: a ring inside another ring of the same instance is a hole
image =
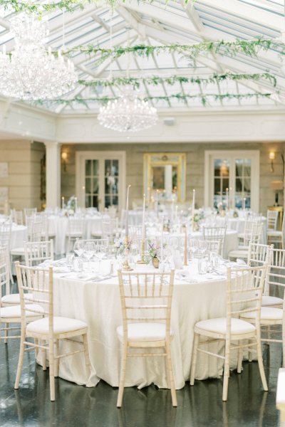
[[[55,334],[82,330],[86,327],[86,322],[82,322],[82,320],[71,319],[69,317],[53,317],[53,332]],[[48,334],[48,317],[29,323],[26,331],[36,334]]]

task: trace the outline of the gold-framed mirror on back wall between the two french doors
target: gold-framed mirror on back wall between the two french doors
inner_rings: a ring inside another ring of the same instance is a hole
[[[159,191],[164,198],[185,201],[186,195],[186,154],[147,153],[144,154],[144,192],[147,201]]]

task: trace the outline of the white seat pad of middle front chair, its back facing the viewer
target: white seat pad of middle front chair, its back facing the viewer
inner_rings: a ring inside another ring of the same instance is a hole
[[[117,327],[120,341],[123,341],[123,325]],[[170,335],[173,335],[170,330]],[[129,341],[162,341],[165,339],[165,324],[156,322],[142,322],[128,324]]]

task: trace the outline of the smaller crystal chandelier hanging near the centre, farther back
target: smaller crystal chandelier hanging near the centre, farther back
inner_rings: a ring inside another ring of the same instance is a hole
[[[140,99],[133,88],[121,91],[118,100],[108,101],[100,107],[100,125],[119,132],[138,132],[152,127],[157,122],[157,110],[147,101]]]

